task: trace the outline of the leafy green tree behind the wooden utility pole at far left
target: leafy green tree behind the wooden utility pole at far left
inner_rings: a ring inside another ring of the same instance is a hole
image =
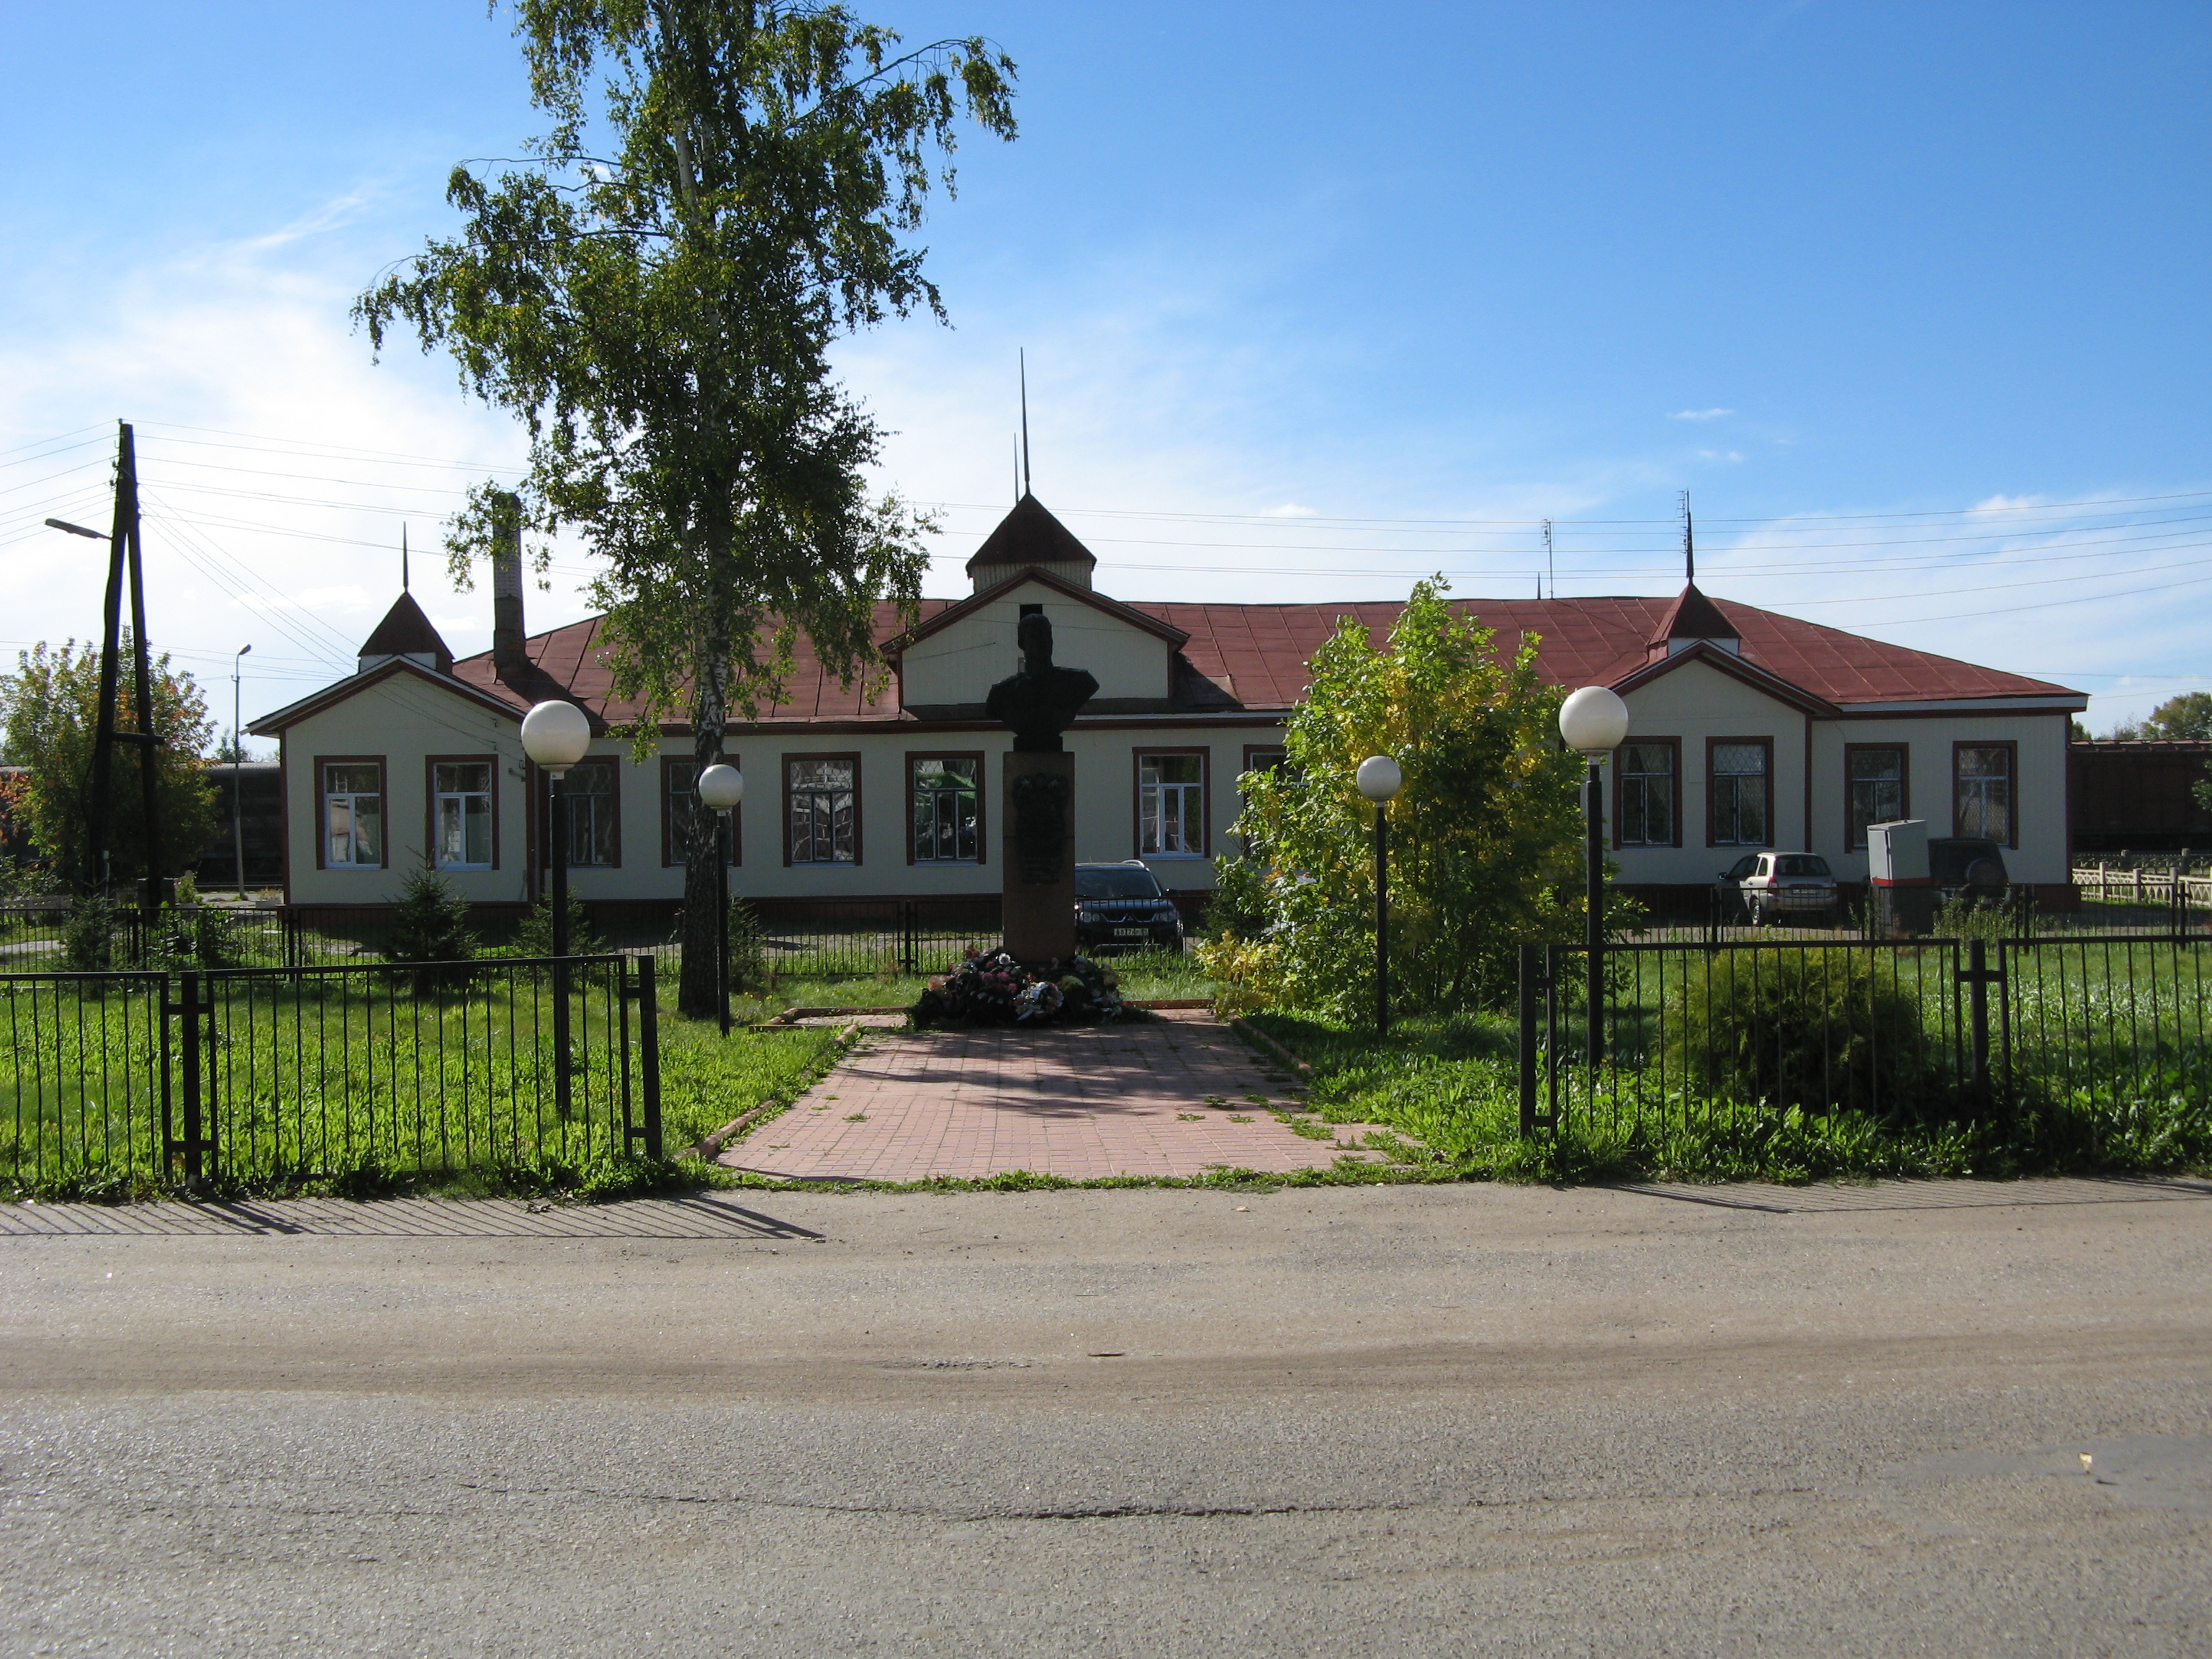
[[[128,630],[122,639],[122,681],[115,721],[137,730],[131,697]],[[40,641],[15,655],[15,672],[0,679],[7,752],[24,768],[20,805],[31,845],[75,889],[97,885],[91,867],[93,734],[100,728],[100,650]],[[208,703],[192,677],[153,659],[155,801],[161,814],[157,869],[177,876],[199,863],[215,832],[215,787],[201,754],[215,737]],[[108,874],[115,885],[146,874],[146,818],[139,792],[139,745],[117,743],[108,776]]]

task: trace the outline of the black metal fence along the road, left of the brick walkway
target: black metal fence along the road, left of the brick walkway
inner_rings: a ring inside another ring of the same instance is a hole
[[[4,973],[18,1183],[661,1157],[650,958]]]

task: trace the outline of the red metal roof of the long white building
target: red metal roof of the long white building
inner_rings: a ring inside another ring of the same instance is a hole
[[[953,606],[953,599],[922,599],[922,622]],[[1522,635],[1540,635],[1537,672],[1553,686],[1610,686],[1648,668],[1648,641],[1659,635],[1679,599],[1455,599],[1498,635],[1498,653],[1511,653]],[[1995,668],[1978,668],[1929,650],[1889,646],[1880,639],[1798,622],[1730,599],[1714,599],[1741,639],[1745,661],[1827,703],[1918,703],[1978,697],[2079,697],[2066,686]],[[1188,635],[1181,650],[1188,668],[1210,679],[1243,708],[1283,710],[1298,701],[1307,661],[1352,617],[1376,644],[1398,619],[1396,602],[1358,604],[1141,604],[1133,611],[1166,622]],[[518,710],[544,697],[571,697],[595,719],[619,723],[635,714],[628,703],[611,703],[613,677],[599,661],[599,617],[533,635],[524,650],[531,677],[502,684],[491,672],[491,653],[453,664],[453,677],[500,697]],[[889,644],[900,633],[898,611],[876,606],[876,639]],[[1075,664],[1082,666],[1082,664]],[[1208,701],[1208,708],[1221,708]],[[860,688],[843,688],[821,670],[805,639],[785,701],[761,710],[761,719],[898,719],[896,684],[863,701]]]

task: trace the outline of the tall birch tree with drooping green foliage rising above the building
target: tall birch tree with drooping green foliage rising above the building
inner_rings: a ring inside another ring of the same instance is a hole
[[[456,575],[520,520],[606,560],[615,692],[639,750],[686,719],[699,765],[732,710],[774,703],[803,635],[847,684],[880,675],[876,604],[911,615],[929,520],[872,500],[880,436],[830,376],[836,336],[942,316],[911,246],[964,111],[1013,137],[1013,64],[980,38],[902,51],[803,0],[518,0],[533,164],[447,199],[462,232],[356,303],[447,347],[531,431],[520,495],[476,493]],[[538,562],[542,566],[544,551]],[[714,832],[686,825],[679,1006],[714,995]]]

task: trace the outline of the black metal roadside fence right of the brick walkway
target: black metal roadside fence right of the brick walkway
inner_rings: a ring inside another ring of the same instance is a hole
[[[2212,1102],[2201,931],[1524,947],[1524,1133],[1666,1133],[1739,1113],[2006,1117]]]

